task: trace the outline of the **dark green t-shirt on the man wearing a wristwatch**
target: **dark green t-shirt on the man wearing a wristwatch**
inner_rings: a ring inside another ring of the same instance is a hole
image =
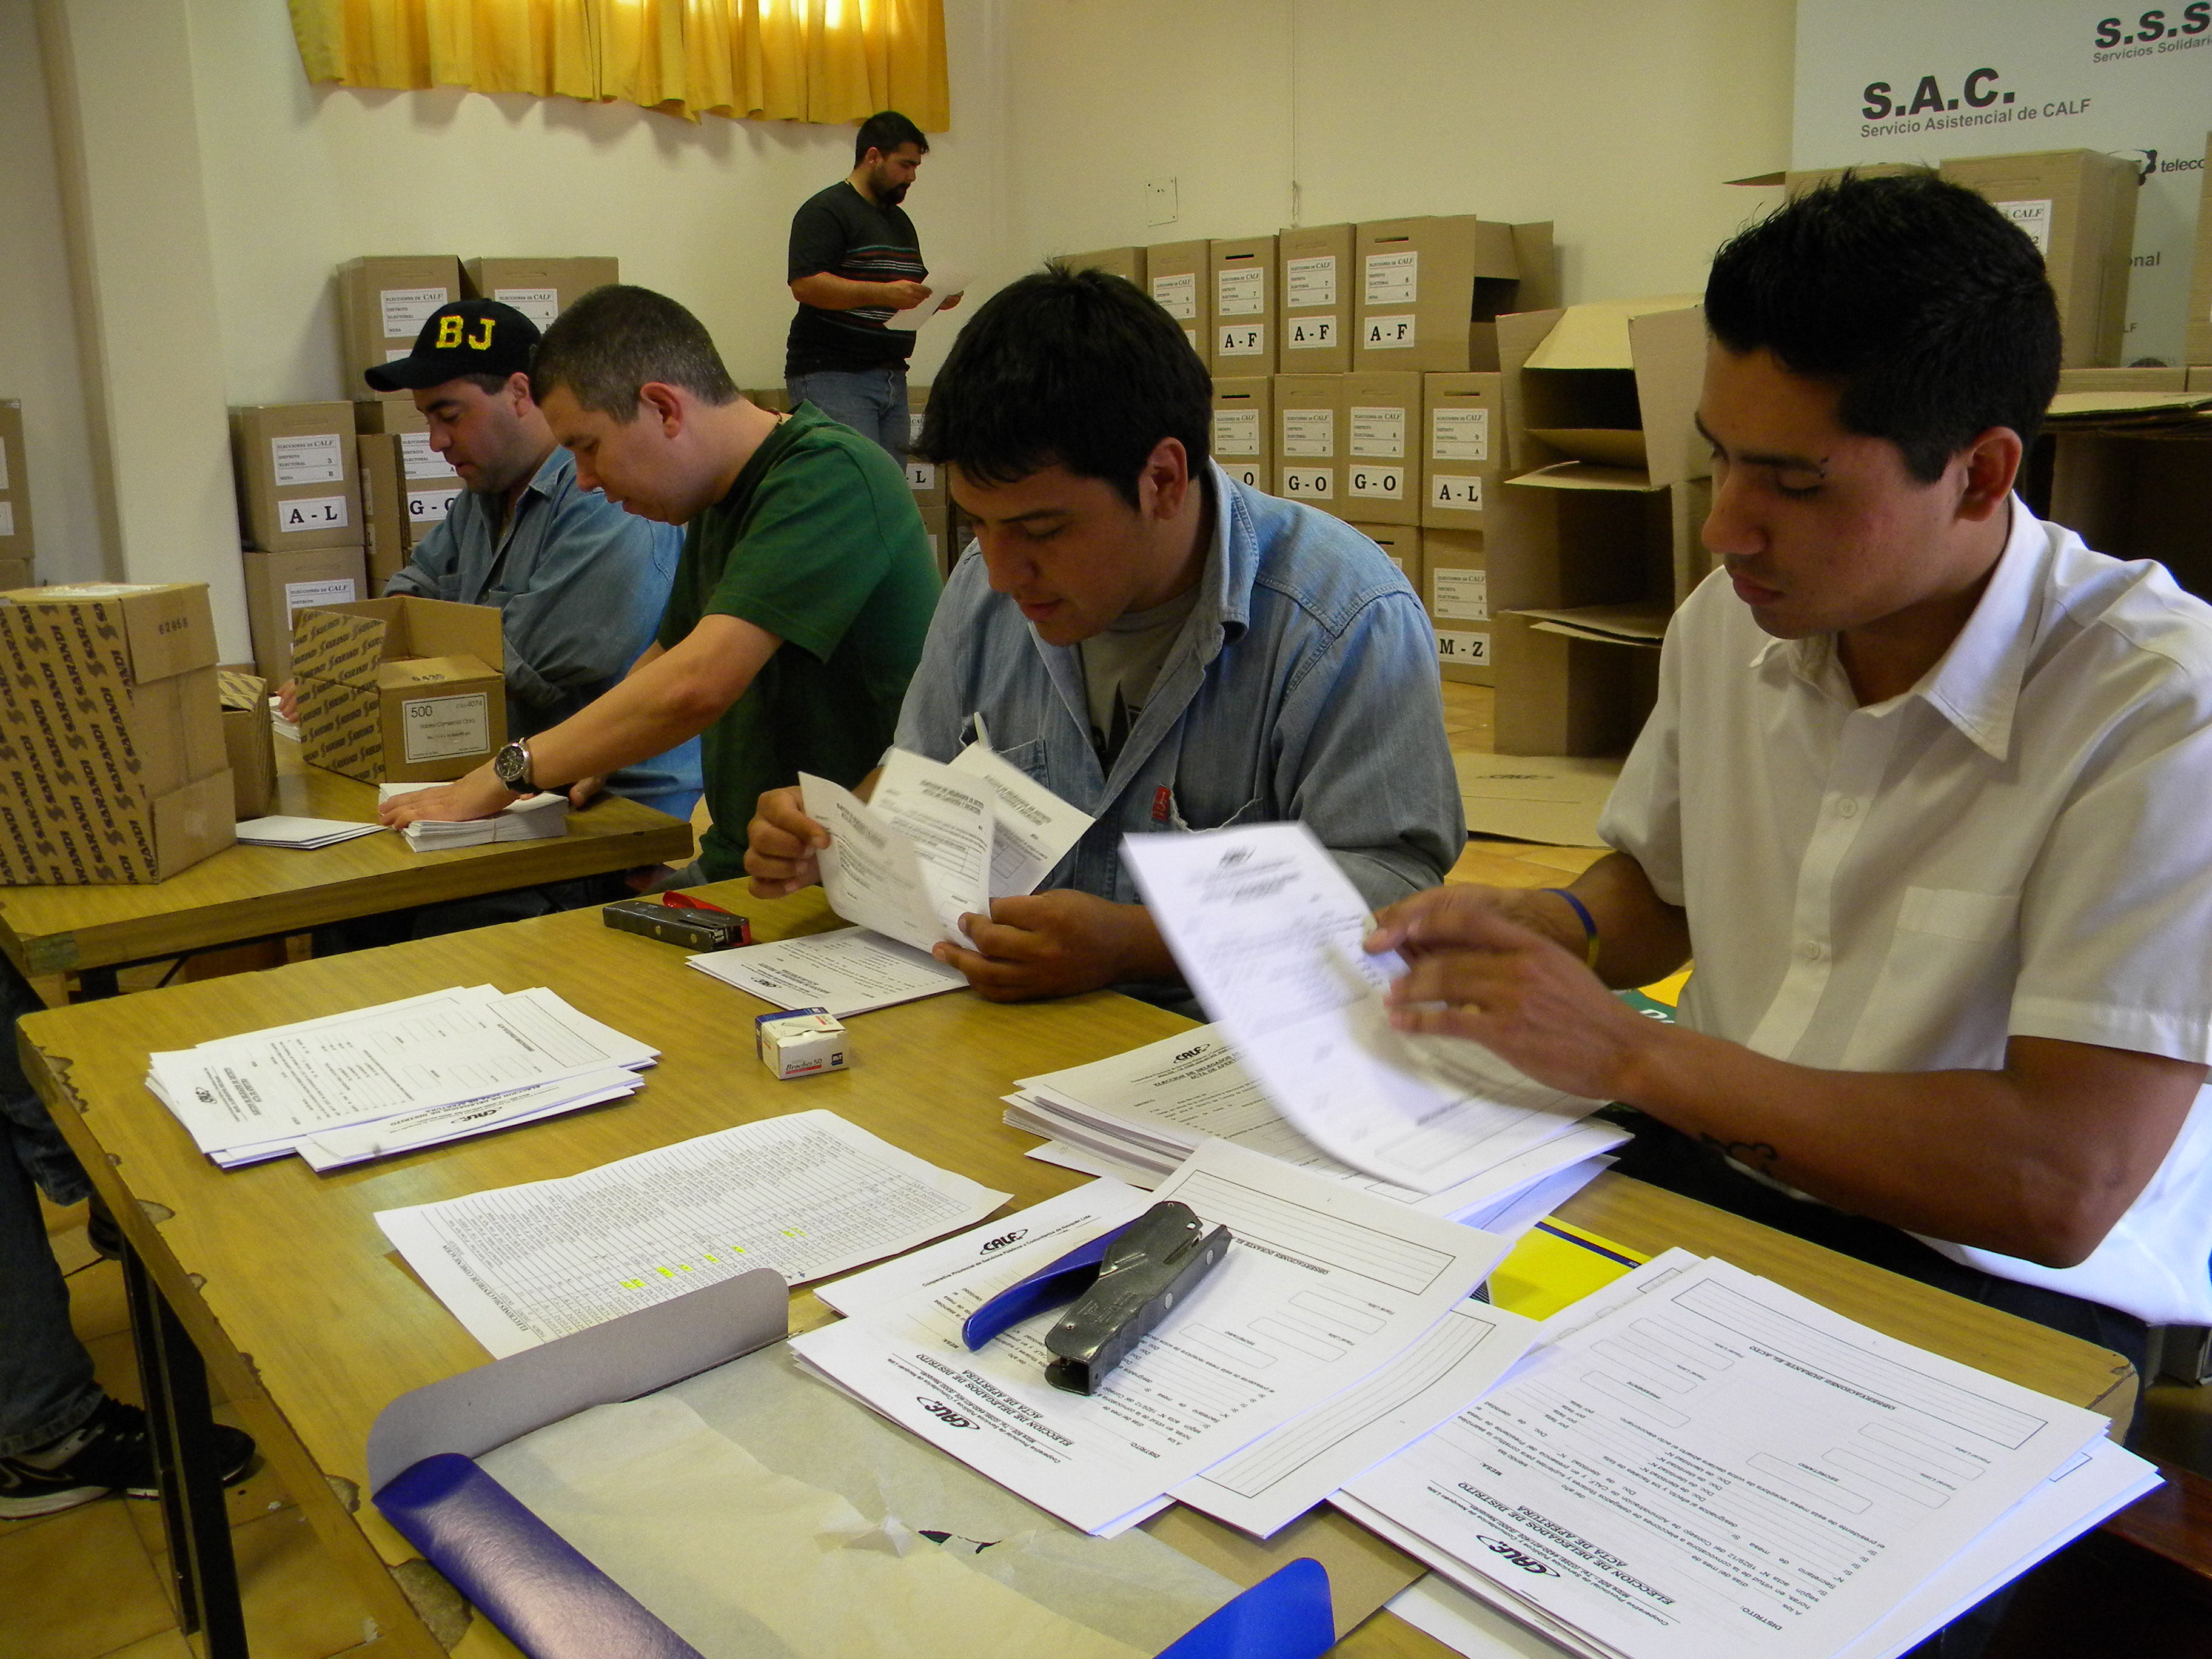
[[[812,403],[776,427],[684,533],[661,644],[699,617],[741,617],[783,639],[745,695],[706,728],[699,858],[741,876],[745,825],[799,772],[854,785],[883,759],[922,657],[938,568],[898,462]]]

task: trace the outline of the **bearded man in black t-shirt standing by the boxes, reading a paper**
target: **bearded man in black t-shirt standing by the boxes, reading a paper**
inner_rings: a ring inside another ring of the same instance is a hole
[[[792,215],[790,283],[799,314],[783,349],[792,407],[812,403],[907,465],[907,356],[916,330],[889,327],[929,299],[922,246],[898,204],[929,155],[898,111],[860,122],[854,166]],[[945,301],[951,310],[960,296]]]

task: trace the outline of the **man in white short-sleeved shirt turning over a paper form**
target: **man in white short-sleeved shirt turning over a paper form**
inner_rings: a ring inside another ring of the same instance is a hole
[[[1615,852],[1394,905],[1394,1018],[1641,1108],[1632,1175],[2141,1363],[2212,1323],[2212,608],[2013,495],[2059,334],[1980,197],[1807,195],[1705,319],[1725,568]],[[1679,1026],[1604,989],[1690,958]]]

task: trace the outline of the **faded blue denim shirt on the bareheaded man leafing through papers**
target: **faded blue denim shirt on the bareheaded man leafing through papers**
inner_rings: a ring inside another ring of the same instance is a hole
[[[898,745],[949,761],[982,712],[1000,754],[1097,816],[1046,887],[1135,905],[1121,836],[1276,821],[1305,823],[1369,905],[1433,887],[1467,816],[1420,599],[1349,524],[1219,467],[1206,482],[1199,602],[1110,774],[1077,648],[1037,639],[975,549],[929,624]]]

